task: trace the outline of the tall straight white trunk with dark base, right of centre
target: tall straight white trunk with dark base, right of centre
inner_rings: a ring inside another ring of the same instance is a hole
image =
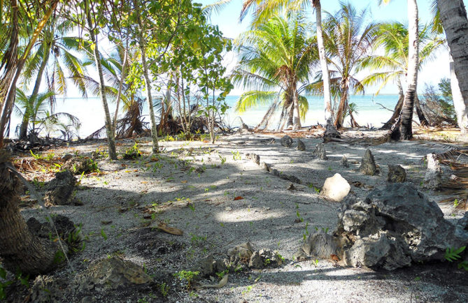
[[[418,86],[418,4],[416,0],[408,0],[408,88],[404,95],[401,123],[399,125],[399,140],[409,140],[413,137],[413,107]],[[396,138],[392,135],[392,138]]]

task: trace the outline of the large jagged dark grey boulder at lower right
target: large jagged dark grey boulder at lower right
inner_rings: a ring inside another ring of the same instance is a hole
[[[444,260],[447,247],[468,243],[468,232],[446,221],[437,203],[409,184],[389,184],[364,201],[348,195],[337,235],[346,265],[390,270]]]

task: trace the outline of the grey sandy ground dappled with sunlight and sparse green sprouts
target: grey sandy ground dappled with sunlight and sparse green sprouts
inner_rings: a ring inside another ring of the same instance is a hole
[[[406,169],[408,182],[420,186],[425,173],[423,156],[446,150],[444,145],[421,141],[376,146],[332,142],[325,145],[328,160],[323,161],[312,154],[315,145],[322,142],[320,138],[303,138],[306,151],[295,149],[296,140],[287,148],[281,146],[281,137],[276,137],[275,142],[271,138],[229,135],[214,145],[164,141],[160,142],[164,152],[157,161],[152,161],[150,141],[141,139],[141,158],[112,163],[103,159],[98,162],[101,175],[83,177],[76,195],[82,206],[55,206],[49,210],[82,225],[83,236],[87,237],[85,249],[71,257],[78,272],[92,260],[118,255],[144,265],[148,272],[163,279],[164,274],[171,276],[192,268],[208,254],[221,257],[227,249],[247,241],[255,249],[278,251],[287,260],[285,266],[231,274],[227,286],[220,289],[186,290],[173,279],[166,297],[157,290],[118,290],[74,297],[71,301],[468,302],[468,274],[449,263],[385,272],[336,267],[329,260],[292,260],[304,235],[315,228],[336,227],[339,203],[325,200],[317,192],[327,177],[339,172],[350,183],[360,182],[364,186],[351,185],[351,190],[364,198],[374,187],[387,183],[388,164],[399,164]],[[120,140],[120,154],[132,145],[133,140]],[[358,171],[367,148],[381,169],[373,177]],[[70,145],[53,152],[56,157],[73,152],[90,156],[96,149],[105,150],[105,142]],[[260,155],[260,161],[295,175],[302,184],[288,189],[291,182],[262,170],[246,158],[247,153]],[[340,163],[343,155],[348,158],[349,168]],[[450,175],[448,168],[444,172],[446,177]],[[421,190],[436,201],[446,198],[441,193]],[[239,196],[241,200],[234,200]],[[452,221],[463,215],[463,210],[451,204],[441,205],[441,209]],[[37,205],[24,207],[22,214],[40,220],[44,216]],[[160,221],[180,228],[183,235],[153,228]],[[64,267],[52,277],[72,283],[75,274]],[[22,301],[24,295],[27,292],[18,290],[15,301]]]

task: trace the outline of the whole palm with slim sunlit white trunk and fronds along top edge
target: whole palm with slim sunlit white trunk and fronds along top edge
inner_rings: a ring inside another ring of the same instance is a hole
[[[330,94],[330,77],[327,58],[325,56],[325,44],[323,42],[322,7],[320,5],[320,0],[244,0],[241,19],[245,17],[248,10],[254,6],[257,8],[254,14],[254,25],[268,20],[271,15],[281,10],[281,8],[287,11],[297,11],[306,6],[315,8],[318,57],[320,59],[320,68],[322,69],[322,92],[325,99],[325,121],[327,121],[327,124],[332,124],[332,96]]]

